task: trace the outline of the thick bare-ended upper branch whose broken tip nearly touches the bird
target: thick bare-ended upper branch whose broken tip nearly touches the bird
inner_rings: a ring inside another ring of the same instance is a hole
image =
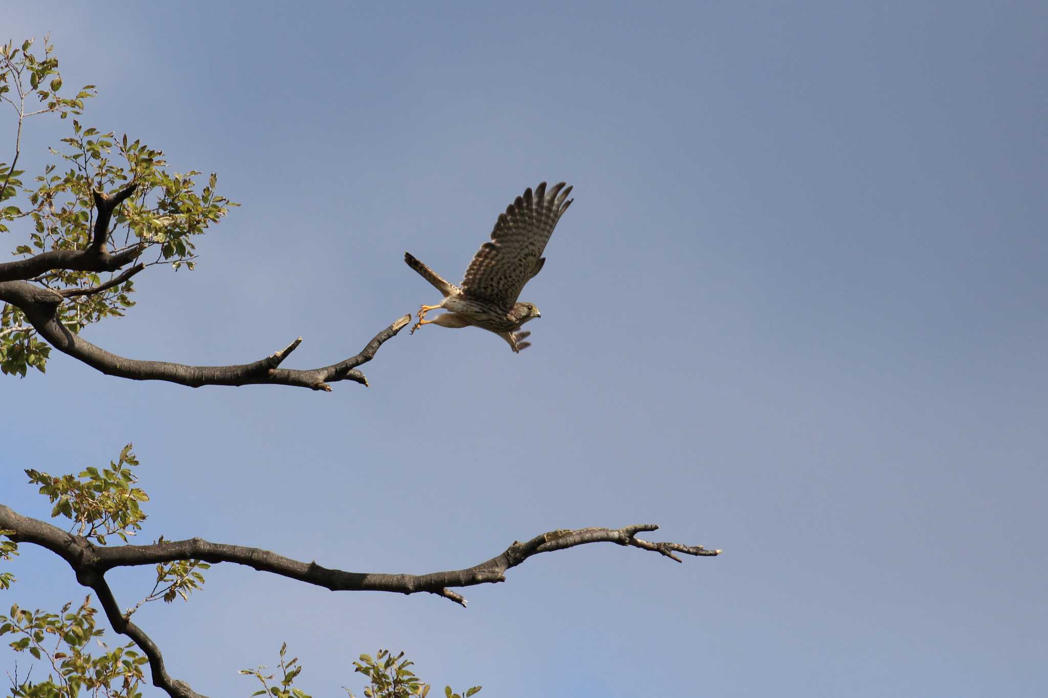
[[[133,270],[134,268],[128,271]],[[68,354],[108,376],[136,381],[168,381],[192,387],[268,384],[330,390],[329,383],[344,380],[367,385],[368,379],[356,367],[371,361],[378,347],[386,340],[394,337],[411,320],[410,315],[398,318],[375,335],[359,354],[322,368],[300,370],[279,367],[287,355],[299,345],[302,341],[301,338],[291,342],[284,350],[252,363],[230,366],[188,366],[167,361],[128,359],[95,346],[62,324],[58,316],[58,309],[63,299],[62,293],[41,288],[28,282],[0,283],[0,300],[20,308],[40,336],[63,354]]]

